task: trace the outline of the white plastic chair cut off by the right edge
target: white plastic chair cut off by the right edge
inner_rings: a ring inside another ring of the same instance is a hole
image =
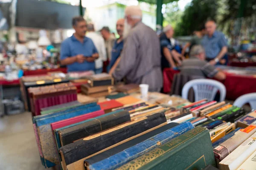
[[[249,103],[252,109],[256,109],[256,93],[249,93],[240,96],[235,100],[233,105],[241,108],[246,103]]]

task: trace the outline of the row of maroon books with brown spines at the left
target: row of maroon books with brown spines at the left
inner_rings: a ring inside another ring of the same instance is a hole
[[[41,109],[77,100],[76,87],[72,83],[60,83],[28,88],[32,115],[40,115]]]

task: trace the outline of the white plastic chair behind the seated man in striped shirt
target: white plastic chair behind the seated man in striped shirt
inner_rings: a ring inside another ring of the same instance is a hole
[[[214,100],[217,91],[220,91],[220,102],[226,97],[225,86],[212,79],[194,79],[187,82],[182,88],[182,98],[188,99],[189,89],[193,88],[195,102],[201,99]]]

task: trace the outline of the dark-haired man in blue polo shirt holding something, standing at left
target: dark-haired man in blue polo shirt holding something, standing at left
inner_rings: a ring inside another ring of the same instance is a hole
[[[87,24],[83,17],[72,20],[75,33],[61,44],[61,65],[67,65],[67,71],[95,70],[94,60],[99,57],[93,41],[85,37]]]

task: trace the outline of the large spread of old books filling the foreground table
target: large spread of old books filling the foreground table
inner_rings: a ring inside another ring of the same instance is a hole
[[[142,101],[121,93],[98,104],[73,102],[52,109],[33,118],[45,167],[247,170],[255,164],[256,125],[251,121],[256,112],[245,114],[229,103],[207,99],[191,103],[165,95]]]

